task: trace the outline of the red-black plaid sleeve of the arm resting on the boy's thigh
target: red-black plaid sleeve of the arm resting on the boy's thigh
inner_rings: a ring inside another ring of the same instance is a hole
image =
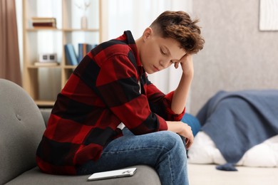
[[[133,58],[115,55],[101,65],[96,88],[108,108],[134,134],[167,130],[163,117],[150,110],[148,97],[140,94]]]

